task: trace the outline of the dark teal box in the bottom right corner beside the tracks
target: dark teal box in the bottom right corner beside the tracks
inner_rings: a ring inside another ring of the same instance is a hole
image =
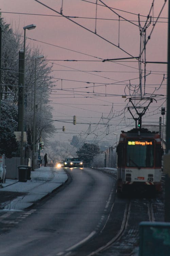
[[[139,256],[170,256],[170,222],[141,222],[139,240]]]

